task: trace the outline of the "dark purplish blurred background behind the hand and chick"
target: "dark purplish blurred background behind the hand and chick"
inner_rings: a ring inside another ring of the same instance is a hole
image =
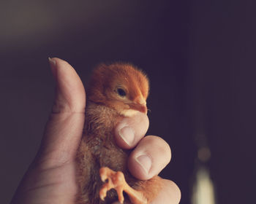
[[[85,87],[99,62],[143,68],[148,134],[172,148],[162,176],[181,188],[181,204],[190,203],[198,136],[211,149],[218,203],[254,203],[255,20],[247,0],[1,1],[1,203],[34,158],[50,113],[48,57],[71,63]]]

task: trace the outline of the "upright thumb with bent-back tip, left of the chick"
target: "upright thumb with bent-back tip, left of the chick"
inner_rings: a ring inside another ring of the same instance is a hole
[[[61,165],[75,157],[83,133],[86,93],[69,63],[49,59],[56,79],[56,98],[39,150],[46,165]]]

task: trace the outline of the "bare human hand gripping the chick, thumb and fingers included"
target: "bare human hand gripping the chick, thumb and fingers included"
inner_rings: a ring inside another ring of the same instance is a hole
[[[75,204],[75,154],[83,135],[86,93],[78,74],[59,58],[50,60],[56,80],[56,99],[45,127],[37,156],[19,184],[11,204]],[[170,162],[170,147],[157,136],[145,136],[146,114],[123,119],[115,129],[117,144],[135,148],[129,157],[130,172],[139,179],[157,175]],[[132,138],[132,139],[131,139]],[[179,203],[181,193],[173,181],[163,179],[165,187],[154,204]]]

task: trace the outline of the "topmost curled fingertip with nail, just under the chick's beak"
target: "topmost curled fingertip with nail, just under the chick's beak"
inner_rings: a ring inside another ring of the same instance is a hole
[[[115,128],[115,139],[123,149],[132,149],[145,136],[148,130],[148,116],[138,112],[132,117],[125,117]]]

